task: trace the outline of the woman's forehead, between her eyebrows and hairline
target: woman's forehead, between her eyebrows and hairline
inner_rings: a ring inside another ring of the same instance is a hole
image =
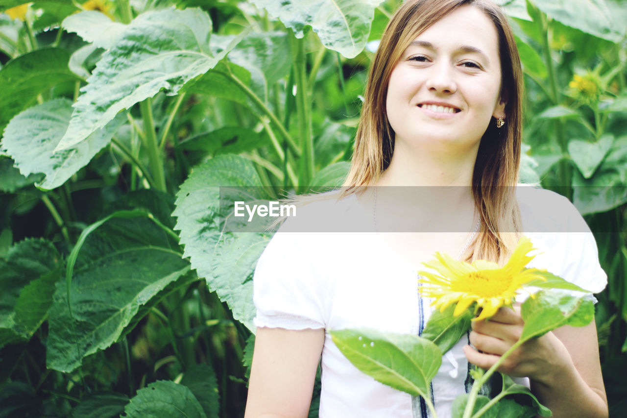
[[[414,41],[435,48],[472,46],[498,58],[498,35],[492,19],[476,6],[464,5],[424,29]]]

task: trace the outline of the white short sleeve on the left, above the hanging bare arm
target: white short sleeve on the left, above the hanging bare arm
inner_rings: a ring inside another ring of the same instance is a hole
[[[325,328],[323,277],[316,267],[317,235],[279,230],[272,237],[253,276],[255,326]]]

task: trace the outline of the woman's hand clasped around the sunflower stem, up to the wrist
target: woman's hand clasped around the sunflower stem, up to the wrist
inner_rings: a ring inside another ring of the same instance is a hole
[[[519,340],[523,326],[520,306],[515,306],[515,309],[500,308],[488,321],[473,321],[470,343],[475,348],[465,346],[463,349],[468,362],[485,369],[492,367]],[[568,367],[567,358],[569,353],[564,344],[549,332],[519,346],[498,367],[498,371],[544,382]]]

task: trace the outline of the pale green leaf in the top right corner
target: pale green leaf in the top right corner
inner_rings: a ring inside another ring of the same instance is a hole
[[[532,3],[571,28],[608,41],[623,39],[624,22],[614,19],[603,0],[534,0]]]

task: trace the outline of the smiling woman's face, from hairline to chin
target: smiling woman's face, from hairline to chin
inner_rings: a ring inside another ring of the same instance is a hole
[[[490,118],[505,117],[498,36],[474,6],[461,6],[404,51],[387,88],[395,148],[477,149]]]

